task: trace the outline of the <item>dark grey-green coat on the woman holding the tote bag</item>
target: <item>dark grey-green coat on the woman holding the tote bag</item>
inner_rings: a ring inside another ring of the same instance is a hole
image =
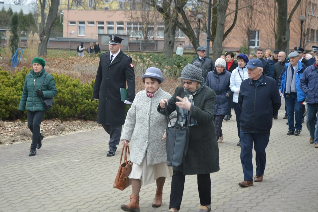
[[[203,86],[202,90],[193,96],[194,105],[192,106],[191,118],[197,120],[197,125],[190,126],[187,154],[180,166],[173,167],[173,170],[183,172],[184,175],[209,174],[220,170],[218,142],[213,122],[215,93],[208,86]],[[169,114],[174,111],[179,113],[179,108],[176,106],[176,101],[178,101],[176,96],[184,98],[185,95],[183,87],[176,88],[175,93],[168,101]],[[158,112],[165,115],[164,111],[160,111],[160,104]]]

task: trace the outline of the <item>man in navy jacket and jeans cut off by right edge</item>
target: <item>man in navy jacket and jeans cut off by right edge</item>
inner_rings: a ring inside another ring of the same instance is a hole
[[[308,66],[300,79],[301,90],[306,93],[307,103],[307,128],[309,130],[309,143],[315,143],[318,148],[318,126],[315,127],[316,114],[318,111],[318,52],[315,55],[314,65]]]

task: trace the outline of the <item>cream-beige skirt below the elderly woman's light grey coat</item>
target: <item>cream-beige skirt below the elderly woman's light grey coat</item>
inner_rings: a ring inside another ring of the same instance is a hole
[[[170,180],[172,177],[172,167],[167,166],[167,163],[147,165],[147,155],[143,159],[142,165],[133,163],[131,173],[128,176],[130,179],[140,179],[142,185],[148,185],[154,183],[156,179],[165,177],[166,180]]]

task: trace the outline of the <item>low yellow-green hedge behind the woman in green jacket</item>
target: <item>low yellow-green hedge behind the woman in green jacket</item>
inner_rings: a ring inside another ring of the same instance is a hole
[[[17,71],[10,76],[9,71],[0,68],[0,119],[18,118],[18,106],[23,90],[24,79],[31,69]],[[79,118],[96,121],[98,101],[92,99],[94,80],[82,84],[64,74],[52,74],[58,94],[54,97],[55,105],[45,113],[45,119]],[[126,108],[126,114],[130,106]]]

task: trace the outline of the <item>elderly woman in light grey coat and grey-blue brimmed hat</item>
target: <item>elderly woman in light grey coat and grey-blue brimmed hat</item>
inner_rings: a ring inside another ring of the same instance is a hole
[[[157,190],[152,207],[160,207],[162,188],[166,179],[172,176],[171,167],[167,166],[165,130],[167,118],[157,113],[161,99],[169,99],[171,95],[161,89],[164,81],[160,69],[149,68],[141,76],[145,90],[137,93],[129,109],[121,135],[123,145],[131,142],[130,161],[133,163],[129,175],[132,195],[128,205],[121,205],[124,211],[139,212],[139,192],[142,185],[157,183]],[[176,112],[170,114],[176,121]]]

